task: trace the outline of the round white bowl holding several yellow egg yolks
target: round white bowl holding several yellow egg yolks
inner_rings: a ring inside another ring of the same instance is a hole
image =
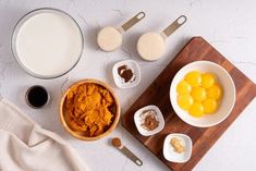
[[[183,66],[170,87],[171,105],[186,123],[209,127],[222,122],[235,103],[235,86],[230,74],[209,61]]]

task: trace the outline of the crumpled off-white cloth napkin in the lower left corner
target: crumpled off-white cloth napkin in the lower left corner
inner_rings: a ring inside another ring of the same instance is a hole
[[[88,171],[59,135],[0,97],[0,171]]]

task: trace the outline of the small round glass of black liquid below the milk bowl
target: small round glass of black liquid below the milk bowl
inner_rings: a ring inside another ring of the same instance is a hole
[[[32,108],[42,108],[49,102],[49,93],[40,85],[32,86],[26,91],[26,102]]]

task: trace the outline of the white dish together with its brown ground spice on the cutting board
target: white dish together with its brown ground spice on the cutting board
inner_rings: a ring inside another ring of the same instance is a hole
[[[150,136],[159,133],[164,127],[164,119],[157,106],[146,106],[137,110],[134,114],[134,122],[144,136]]]

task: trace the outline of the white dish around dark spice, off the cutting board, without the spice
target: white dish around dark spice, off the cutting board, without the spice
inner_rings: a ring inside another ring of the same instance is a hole
[[[135,81],[133,83],[131,83],[131,84],[122,84],[119,81],[118,66],[121,65],[121,64],[125,64],[125,63],[133,63],[133,65],[135,66],[135,68],[133,68],[133,70],[134,70],[134,72],[137,73]],[[119,61],[119,62],[114,63],[114,65],[112,68],[112,76],[113,76],[114,84],[119,88],[132,88],[132,87],[135,87],[135,86],[137,86],[141,83],[141,78],[142,78],[139,65],[134,60],[122,60],[122,61]]]

